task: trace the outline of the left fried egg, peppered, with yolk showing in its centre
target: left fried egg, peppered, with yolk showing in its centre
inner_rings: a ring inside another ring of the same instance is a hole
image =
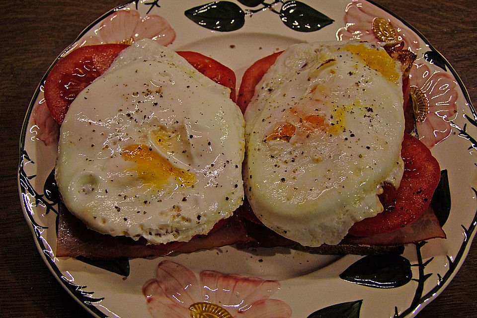
[[[149,243],[207,234],[243,201],[244,121],[230,90],[141,40],[79,93],[56,180],[88,228]]]

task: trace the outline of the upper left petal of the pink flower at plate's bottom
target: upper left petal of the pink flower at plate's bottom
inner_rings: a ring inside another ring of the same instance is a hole
[[[156,271],[156,280],[161,283],[160,287],[165,295],[182,306],[188,308],[202,300],[197,277],[190,269],[180,264],[169,260],[161,261]]]

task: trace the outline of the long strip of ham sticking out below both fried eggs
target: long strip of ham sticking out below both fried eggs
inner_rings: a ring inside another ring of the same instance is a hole
[[[245,211],[245,213],[244,213]],[[426,239],[445,238],[434,212],[427,211],[410,225],[391,233],[373,237],[346,236],[338,245],[319,247],[302,246],[246,217],[247,208],[240,208],[225,224],[207,236],[195,236],[189,242],[171,242],[147,245],[127,237],[112,237],[89,230],[63,205],[58,224],[57,257],[69,256],[96,258],[166,256],[173,252],[189,253],[237,244],[238,248],[288,247],[321,254],[376,254],[402,252],[401,245]]]

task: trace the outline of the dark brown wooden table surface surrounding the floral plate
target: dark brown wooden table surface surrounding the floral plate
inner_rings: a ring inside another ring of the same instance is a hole
[[[87,4],[85,2],[88,2]],[[207,1],[204,1],[204,3]],[[477,101],[477,5],[466,0],[376,0],[419,30]],[[124,0],[1,1],[0,317],[88,317],[38,253],[17,187],[24,114],[52,61],[90,22]],[[472,4],[471,4],[472,3]],[[477,244],[450,285],[418,318],[477,317]]]

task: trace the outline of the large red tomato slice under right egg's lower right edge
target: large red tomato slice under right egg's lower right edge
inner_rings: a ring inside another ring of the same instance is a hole
[[[404,134],[401,157],[404,174],[399,187],[395,190],[385,185],[380,195],[383,213],[355,223],[349,234],[368,237],[388,233],[418,219],[427,209],[439,183],[439,163],[423,143],[408,134]]]

